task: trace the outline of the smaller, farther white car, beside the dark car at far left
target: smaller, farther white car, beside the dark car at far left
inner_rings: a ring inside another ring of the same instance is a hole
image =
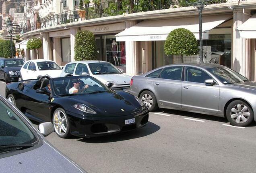
[[[62,68],[52,60],[28,60],[21,67],[18,80],[38,79],[45,75],[55,78],[60,77],[61,72]]]

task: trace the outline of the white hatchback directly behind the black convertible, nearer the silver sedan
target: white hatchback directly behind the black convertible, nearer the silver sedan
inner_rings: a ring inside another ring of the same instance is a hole
[[[97,78],[106,85],[109,82],[113,83],[114,85],[111,89],[128,91],[130,88],[132,77],[123,74],[114,65],[105,61],[87,60],[69,62],[64,66],[60,76],[78,76],[83,72]]]

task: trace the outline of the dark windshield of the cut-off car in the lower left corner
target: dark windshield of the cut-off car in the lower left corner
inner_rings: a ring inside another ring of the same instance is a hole
[[[20,117],[0,101],[0,153],[31,146],[37,138]]]

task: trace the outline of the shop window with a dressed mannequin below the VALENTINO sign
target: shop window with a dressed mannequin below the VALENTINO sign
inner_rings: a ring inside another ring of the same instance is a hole
[[[124,68],[126,66],[125,42],[116,42],[115,35],[102,36],[102,39],[105,60],[118,68]]]

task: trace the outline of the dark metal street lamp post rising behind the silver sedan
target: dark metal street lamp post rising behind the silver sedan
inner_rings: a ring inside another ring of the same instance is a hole
[[[203,61],[203,49],[202,49],[202,10],[204,7],[207,6],[207,2],[211,0],[197,0],[196,2],[191,2],[188,4],[193,4],[194,8],[199,10],[199,62],[202,63]]]

